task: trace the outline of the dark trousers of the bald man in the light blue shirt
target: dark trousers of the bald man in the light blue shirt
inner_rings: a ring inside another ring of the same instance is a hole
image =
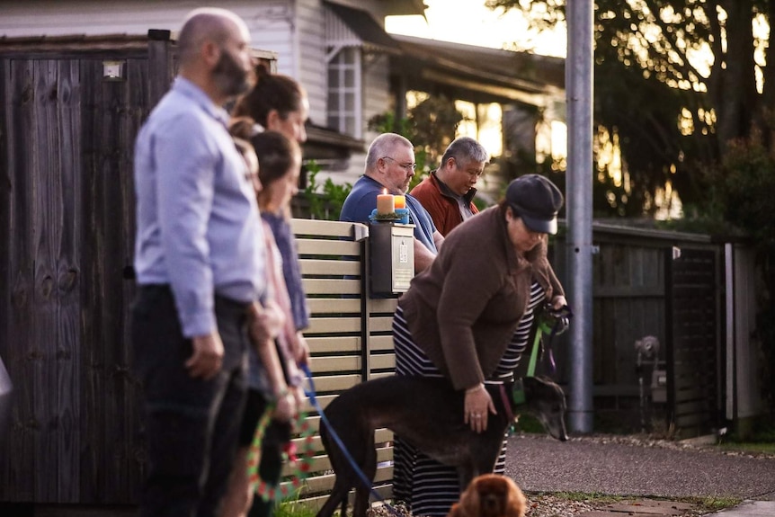
[[[216,297],[223,366],[192,379],[172,290],[139,286],[132,308],[134,363],[144,388],[147,472],[142,517],[216,517],[236,454],[245,406],[246,304]]]

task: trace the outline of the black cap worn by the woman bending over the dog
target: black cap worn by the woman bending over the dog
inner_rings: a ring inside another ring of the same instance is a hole
[[[506,189],[506,203],[530,230],[557,233],[557,212],[563,206],[563,194],[546,177],[525,174],[512,181]]]

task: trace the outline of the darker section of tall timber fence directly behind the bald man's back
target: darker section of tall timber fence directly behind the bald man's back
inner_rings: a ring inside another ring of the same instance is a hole
[[[81,501],[138,500],[142,452],[139,384],[131,375],[126,278],[134,246],[134,138],[153,107],[147,53],[126,57],[124,82],[100,81],[102,61],[85,59],[83,86],[83,222],[81,335],[87,343],[81,431]],[[130,276],[130,275],[129,275]],[[105,451],[110,451],[106,454]]]

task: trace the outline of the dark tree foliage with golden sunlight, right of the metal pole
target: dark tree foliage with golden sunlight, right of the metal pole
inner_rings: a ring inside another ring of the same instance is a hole
[[[536,30],[566,22],[566,0],[487,4],[520,10]],[[763,0],[595,0],[593,11],[596,213],[607,202],[618,216],[654,214],[673,189],[691,219],[675,227],[753,237],[766,281],[754,337],[771,373],[775,65],[769,30],[754,27],[769,28],[773,13]],[[626,181],[611,182],[601,135],[618,138]],[[775,413],[775,388],[765,397]]]

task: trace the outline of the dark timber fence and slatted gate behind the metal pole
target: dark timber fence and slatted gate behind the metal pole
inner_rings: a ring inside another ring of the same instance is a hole
[[[724,244],[710,236],[613,224],[593,224],[592,348],[593,395],[597,422],[607,429],[640,431],[639,373],[635,342],[654,335],[656,358],[665,370],[667,400],[646,401],[648,427],[673,425],[681,436],[712,432],[722,424],[726,385],[724,353],[727,289]],[[552,263],[565,285],[566,243],[553,246]],[[699,259],[698,257],[702,257]],[[741,318],[749,317],[746,314]],[[748,343],[739,343],[742,350]],[[570,380],[566,336],[555,347],[557,379]],[[644,381],[650,395],[653,361]],[[567,390],[566,390],[567,391]]]

